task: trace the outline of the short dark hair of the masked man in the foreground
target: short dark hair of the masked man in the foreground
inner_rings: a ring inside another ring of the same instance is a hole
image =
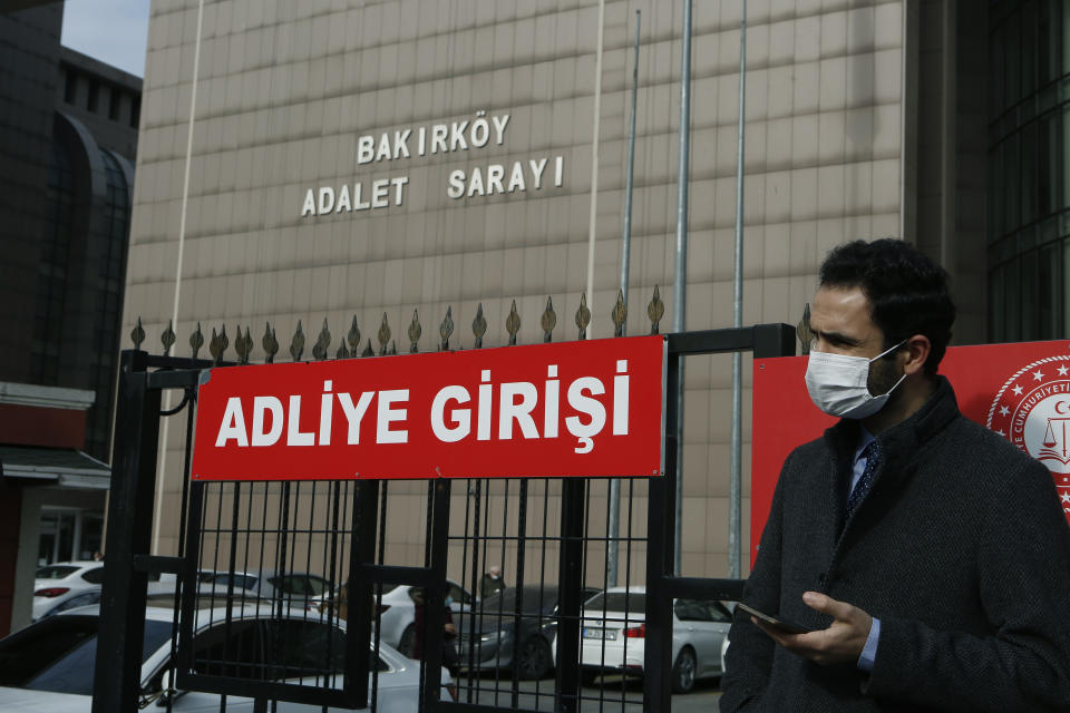
[[[823,287],[860,287],[884,348],[924,334],[932,343],[925,373],[935,374],[951,341],[955,305],[947,272],[899,240],[854,241],[835,247],[820,270]]]

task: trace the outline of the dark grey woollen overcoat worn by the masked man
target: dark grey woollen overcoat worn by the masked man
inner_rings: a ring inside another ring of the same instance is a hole
[[[1070,710],[1070,528],[1044,466],[959,412],[944,378],[882,432],[844,504],[858,426],[785,461],[743,600],[813,628],[806,590],[882,622],[872,673],[774,644],[741,611],[721,711]]]

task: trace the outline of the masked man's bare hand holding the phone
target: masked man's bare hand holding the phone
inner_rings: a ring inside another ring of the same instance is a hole
[[[806,592],[802,595],[802,602],[811,609],[831,616],[835,619],[831,626],[819,632],[788,634],[755,617],[750,617],[750,621],[772,641],[815,663],[821,665],[856,663],[866,645],[866,637],[869,636],[873,617],[856,606],[837,602],[817,592]]]

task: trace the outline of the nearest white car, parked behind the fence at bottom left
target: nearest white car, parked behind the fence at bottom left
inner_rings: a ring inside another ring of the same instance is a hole
[[[280,641],[285,641],[285,668],[320,671],[319,678],[285,678],[288,683],[324,685],[324,676],[333,681],[325,685],[342,685],[341,656],[344,651],[344,623],[309,616],[275,618],[271,607],[247,607],[232,611],[227,625],[226,609],[201,609],[196,623],[194,670],[205,674],[241,675],[250,672],[272,672],[280,668],[276,660],[265,665],[263,645],[252,641],[270,641],[271,627],[284,627]],[[171,635],[174,611],[148,607],[145,611],[144,661],[142,663],[142,697],[149,704],[158,699],[164,687],[171,691],[172,710],[218,711],[218,694],[174,691],[171,687]],[[97,651],[97,631],[100,625],[98,607],[84,607],[48,617],[0,641],[0,713],[88,713],[93,705],[93,681]],[[337,658],[327,661],[323,644],[332,641],[330,651]],[[223,653],[228,652],[225,662]],[[308,657],[308,661],[304,658]],[[374,661],[374,660],[373,660]],[[380,646],[378,656],[377,711],[410,713],[419,709],[420,667],[389,646]],[[337,674],[337,675],[334,675]],[[371,675],[371,674],[369,674]],[[444,686],[453,695],[453,680],[442,670]],[[253,700],[228,695],[226,710],[249,713]],[[309,706],[279,703],[280,712],[305,711]],[[317,711],[321,710],[319,707]],[[340,709],[328,709],[341,711]],[[348,709],[347,709],[348,710]]]

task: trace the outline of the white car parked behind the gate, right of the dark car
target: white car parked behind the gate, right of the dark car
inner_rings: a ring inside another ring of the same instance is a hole
[[[696,680],[721,674],[732,615],[717,600],[674,599],[672,609],[672,685],[687,693]],[[605,673],[643,674],[645,587],[612,587],[592,598],[581,625],[580,664],[587,681]]]

